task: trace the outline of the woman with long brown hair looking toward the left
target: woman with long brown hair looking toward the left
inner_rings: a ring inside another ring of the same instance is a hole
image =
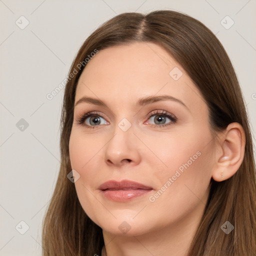
[[[215,35],[175,11],[122,13],[69,71],[43,255],[256,255],[251,133]]]

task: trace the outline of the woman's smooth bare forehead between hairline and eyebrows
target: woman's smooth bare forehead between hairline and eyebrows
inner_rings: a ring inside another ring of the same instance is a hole
[[[129,106],[137,98],[161,94],[179,98],[189,108],[205,107],[200,91],[164,48],[136,42],[99,50],[82,71],[75,102],[91,96],[115,107]]]

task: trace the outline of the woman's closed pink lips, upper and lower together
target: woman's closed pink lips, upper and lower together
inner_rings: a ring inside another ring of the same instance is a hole
[[[109,180],[99,186],[104,196],[111,201],[125,202],[135,197],[142,197],[150,192],[152,187],[131,180]]]

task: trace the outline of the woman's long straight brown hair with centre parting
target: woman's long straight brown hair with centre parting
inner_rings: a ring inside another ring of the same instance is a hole
[[[99,26],[80,47],[69,70],[75,73],[65,86],[56,186],[43,220],[43,255],[88,256],[101,253],[102,229],[82,209],[71,170],[68,143],[73,122],[74,96],[84,59],[95,49],[117,44],[154,42],[166,49],[201,91],[209,109],[210,127],[223,130],[239,122],[245,132],[245,153],[237,172],[227,180],[211,179],[204,214],[188,256],[255,256],[256,181],[253,145],[241,89],[233,66],[219,40],[200,21],[180,12],[157,10],[148,14],[122,13]],[[83,61],[83,62],[82,62]],[[77,72],[74,72],[76,69]],[[71,76],[70,76],[71,77]],[[234,229],[226,234],[221,225]]]

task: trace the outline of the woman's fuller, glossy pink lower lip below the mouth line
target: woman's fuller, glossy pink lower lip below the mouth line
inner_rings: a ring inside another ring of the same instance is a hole
[[[101,190],[104,196],[112,201],[127,201],[142,196],[152,189],[130,189],[130,190]]]

